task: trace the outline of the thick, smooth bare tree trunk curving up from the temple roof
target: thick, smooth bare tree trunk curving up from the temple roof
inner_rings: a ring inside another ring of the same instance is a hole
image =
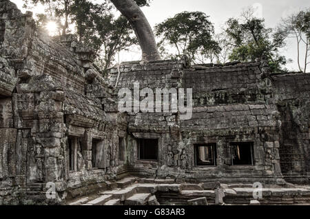
[[[125,16],[138,38],[143,61],[161,60],[155,37],[149,22],[140,7],[133,0],[111,0],[114,6]]]

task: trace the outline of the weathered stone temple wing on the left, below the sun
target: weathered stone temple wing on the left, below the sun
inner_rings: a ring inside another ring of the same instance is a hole
[[[112,89],[92,50],[39,32],[10,1],[0,3],[0,24],[0,202],[61,202],[116,178],[125,116],[104,111]],[[56,200],[45,198],[49,182]]]

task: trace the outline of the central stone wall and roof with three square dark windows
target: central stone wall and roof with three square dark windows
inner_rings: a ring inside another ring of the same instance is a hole
[[[280,113],[266,102],[270,79],[264,62],[222,66],[185,66],[184,62],[124,63],[110,72],[111,84],[132,90],[142,88],[192,88],[193,115],[181,121],[179,112],[129,114],[132,173],[178,180],[281,182]],[[263,79],[262,79],[263,78]],[[158,138],[158,163],[138,160],[138,138]],[[229,143],[254,143],[254,165],[231,165]],[[216,143],[216,165],[195,165],[195,145]]]

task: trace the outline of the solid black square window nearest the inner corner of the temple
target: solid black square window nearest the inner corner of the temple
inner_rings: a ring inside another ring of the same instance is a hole
[[[140,160],[158,160],[158,139],[139,139],[138,155]]]

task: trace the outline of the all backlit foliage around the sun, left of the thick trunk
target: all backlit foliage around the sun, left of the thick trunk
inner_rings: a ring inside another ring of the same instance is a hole
[[[107,69],[114,56],[137,43],[132,27],[125,17],[114,17],[110,1],[90,0],[23,0],[25,7],[43,4],[46,14],[37,15],[37,27],[46,30],[49,21],[59,26],[59,35],[73,32],[76,38],[99,54],[96,62]],[[139,6],[149,6],[150,0],[136,0]],[[62,22],[61,22],[62,21]],[[70,29],[70,25],[74,30]]]

